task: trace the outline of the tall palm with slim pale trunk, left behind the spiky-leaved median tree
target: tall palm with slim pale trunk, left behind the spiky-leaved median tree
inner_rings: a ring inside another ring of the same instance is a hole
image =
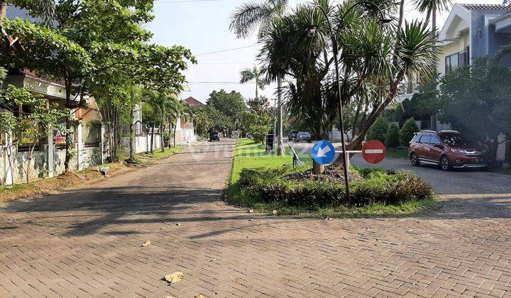
[[[258,31],[258,36],[268,32],[275,19],[280,18],[287,9],[287,0],[264,0],[258,3],[248,2],[238,6],[231,16],[229,29],[236,33],[238,38],[248,38],[251,33]],[[257,93],[257,84],[255,91]],[[278,101],[278,146],[277,155],[282,155],[282,77],[277,77]],[[255,95],[257,97],[257,94]]]

